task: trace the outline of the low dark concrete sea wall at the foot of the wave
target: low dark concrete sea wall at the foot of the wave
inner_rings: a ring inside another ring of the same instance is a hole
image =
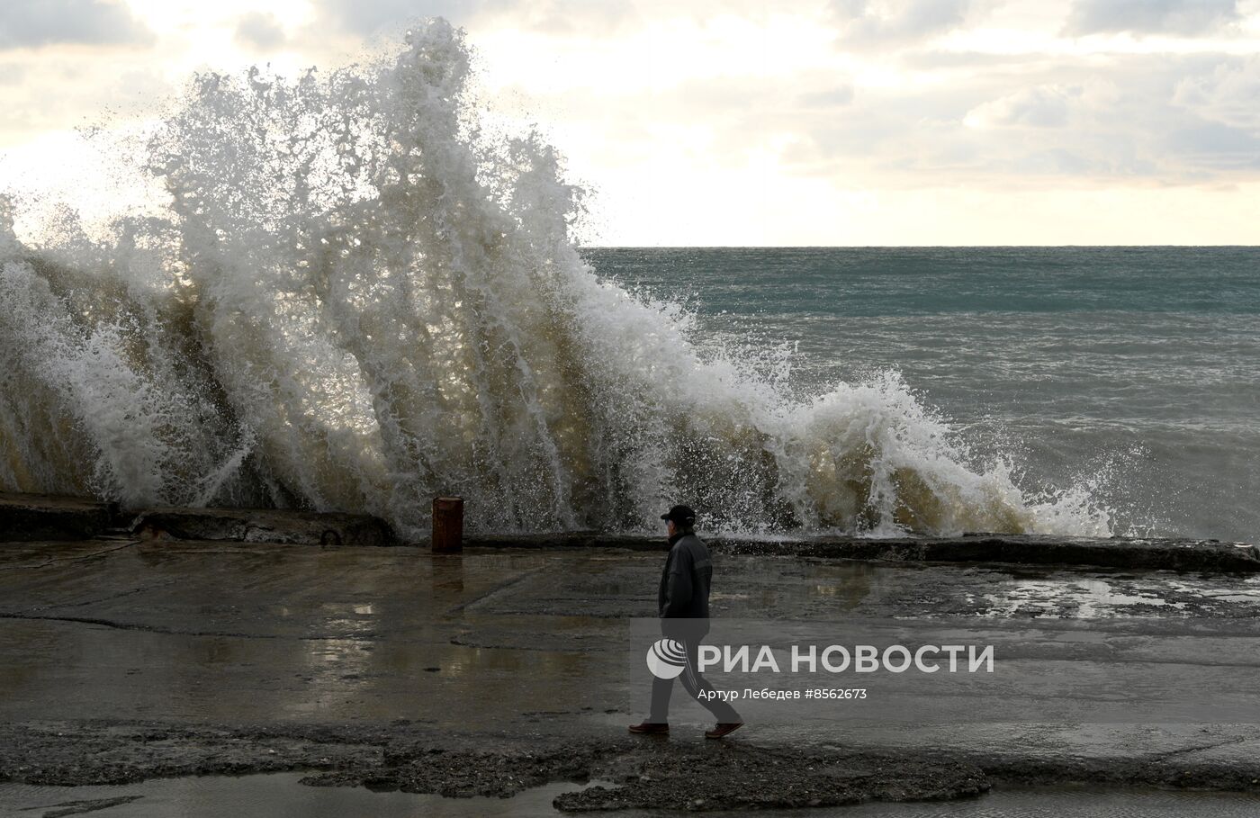
[[[127,512],[73,497],[0,493],[0,543],[137,539],[275,542],[323,547],[423,546],[401,542],[368,514],[287,509],[156,508]],[[968,533],[960,537],[736,537],[706,534],[717,553],[942,563],[1063,565],[1128,570],[1260,573],[1260,548],[1191,538],[1058,537]],[[465,548],[626,548],[662,551],[660,536],[605,532],[465,533]]]

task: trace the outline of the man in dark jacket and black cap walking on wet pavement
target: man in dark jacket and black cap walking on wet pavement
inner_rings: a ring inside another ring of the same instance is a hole
[[[713,562],[708,548],[696,536],[696,512],[687,505],[675,505],[660,518],[667,523],[669,557],[660,575],[656,591],[656,609],[660,633],[682,644],[685,667],[680,673],[683,687],[692,698],[703,705],[717,725],[704,732],[706,739],[721,739],[743,725],[740,713],[717,696],[717,691],[699,673],[699,645],[708,634],[708,592],[713,580]],[[641,725],[631,725],[635,734],[669,732],[669,694],[674,689],[673,677],[655,676],[651,681],[651,716]],[[701,698],[701,692],[706,696]]]

